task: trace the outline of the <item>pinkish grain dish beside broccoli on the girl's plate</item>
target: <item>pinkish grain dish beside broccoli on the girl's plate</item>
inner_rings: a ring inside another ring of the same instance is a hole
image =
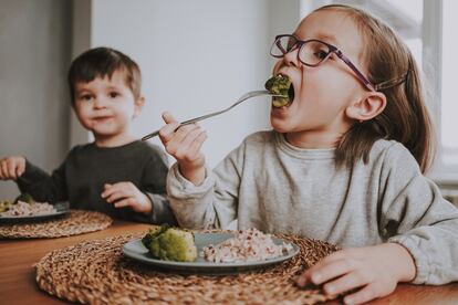
[[[270,234],[253,228],[238,231],[233,238],[217,245],[205,246],[200,255],[215,263],[236,263],[270,260],[292,250],[291,244],[275,244]]]

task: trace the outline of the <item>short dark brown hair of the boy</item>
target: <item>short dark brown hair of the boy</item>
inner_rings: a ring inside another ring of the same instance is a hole
[[[76,83],[89,83],[95,77],[112,77],[115,71],[122,71],[126,85],[135,99],[139,98],[142,90],[142,73],[138,65],[127,55],[111,48],[95,48],[77,56],[70,66],[67,82],[72,105],[75,101]]]

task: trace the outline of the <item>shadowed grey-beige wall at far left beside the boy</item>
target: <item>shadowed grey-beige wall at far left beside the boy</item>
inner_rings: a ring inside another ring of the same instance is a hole
[[[66,155],[70,13],[67,1],[0,1],[0,158],[22,155],[49,171]],[[18,194],[0,181],[0,200]]]

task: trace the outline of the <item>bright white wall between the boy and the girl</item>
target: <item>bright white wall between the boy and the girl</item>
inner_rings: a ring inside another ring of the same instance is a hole
[[[296,0],[93,0],[91,10],[91,46],[118,49],[142,69],[147,104],[133,124],[138,137],[163,126],[164,111],[184,120],[263,88],[273,35],[291,32],[300,13]],[[208,164],[270,128],[269,107],[259,97],[202,122]]]

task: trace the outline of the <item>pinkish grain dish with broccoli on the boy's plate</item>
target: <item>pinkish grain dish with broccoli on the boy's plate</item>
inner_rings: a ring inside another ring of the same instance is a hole
[[[0,202],[0,217],[31,217],[55,213],[55,208],[48,202],[35,202],[28,193],[20,194],[13,202]]]

